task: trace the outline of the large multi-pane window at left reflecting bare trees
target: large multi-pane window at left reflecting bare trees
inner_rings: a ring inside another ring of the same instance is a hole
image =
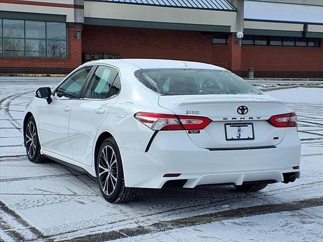
[[[0,19],[0,55],[66,58],[66,23]]]

